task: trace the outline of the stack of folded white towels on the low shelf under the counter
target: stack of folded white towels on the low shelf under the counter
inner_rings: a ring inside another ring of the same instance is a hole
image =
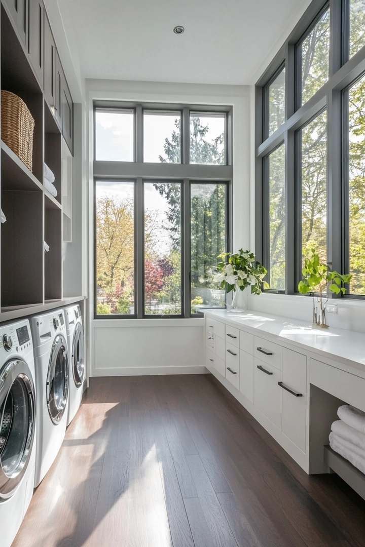
[[[365,473],[365,412],[343,405],[337,414],[340,419],[331,426],[329,446]]]

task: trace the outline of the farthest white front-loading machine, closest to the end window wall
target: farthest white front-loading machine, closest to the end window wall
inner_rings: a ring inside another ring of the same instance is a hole
[[[84,330],[80,306],[65,308],[65,320],[69,355],[68,425],[80,407],[85,380]]]

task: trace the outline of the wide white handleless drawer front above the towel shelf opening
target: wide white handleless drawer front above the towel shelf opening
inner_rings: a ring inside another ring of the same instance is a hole
[[[365,379],[311,359],[310,383],[365,412]]]

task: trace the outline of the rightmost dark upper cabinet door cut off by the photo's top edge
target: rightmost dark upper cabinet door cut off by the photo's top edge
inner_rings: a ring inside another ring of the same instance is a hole
[[[29,55],[40,85],[43,84],[44,5],[42,0],[29,3]]]

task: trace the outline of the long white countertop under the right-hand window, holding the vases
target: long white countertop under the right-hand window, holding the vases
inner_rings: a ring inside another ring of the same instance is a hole
[[[277,340],[290,342],[306,351],[365,371],[365,334],[332,327],[315,328],[310,322],[250,310],[245,313],[206,310],[204,313],[217,321],[244,328],[257,336],[269,335]]]

